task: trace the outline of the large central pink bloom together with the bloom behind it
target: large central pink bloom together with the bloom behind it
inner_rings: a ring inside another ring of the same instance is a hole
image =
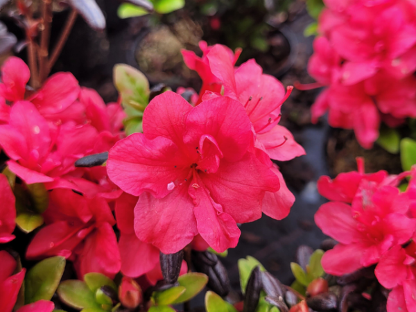
[[[290,94],[283,85],[254,60],[235,69],[238,53],[225,46],[200,47],[202,58],[183,51],[203,81],[195,106],[174,92],[157,96],[144,112],[143,134],[117,142],[107,161],[110,179],[139,196],[130,197],[137,201],[135,221],[126,218],[121,241],[139,240],[141,248],[165,254],[192,242],[223,252],[239,241],[237,223],[262,212],[287,216],[295,198],[270,157],[304,154],[277,125]]]

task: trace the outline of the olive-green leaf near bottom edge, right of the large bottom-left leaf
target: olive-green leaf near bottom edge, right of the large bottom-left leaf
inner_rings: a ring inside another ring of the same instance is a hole
[[[74,309],[101,309],[95,301],[94,293],[89,290],[87,284],[83,281],[76,279],[62,281],[58,287],[58,295],[64,304]]]

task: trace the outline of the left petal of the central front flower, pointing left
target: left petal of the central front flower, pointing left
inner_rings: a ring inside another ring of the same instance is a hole
[[[189,162],[170,139],[149,140],[135,133],[110,150],[107,173],[127,193],[139,196],[148,191],[162,198],[171,191],[171,183],[177,185],[184,181]]]

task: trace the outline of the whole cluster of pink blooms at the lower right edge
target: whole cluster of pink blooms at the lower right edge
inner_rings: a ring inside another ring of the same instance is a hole
[[[397,185],[411,176],[408,188]],[[416,168],[401,175],[385,171],[323,176],[318,191],[331,202],[320,207],[315,223],[338,241],[325,252],[322,266],[332,275],[344,275],[376,264],[376,277],[385,288],[388,312],[416,311]]]

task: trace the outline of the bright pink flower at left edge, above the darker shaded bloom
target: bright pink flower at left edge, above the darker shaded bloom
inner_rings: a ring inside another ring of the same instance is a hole
[[[53,182],[73,171],[74,162],[94,147],[98,133],[91,125],[65,123],[56,129],[27,101],[15,103],[10,123],[0,125],[0,145],[10,171],[27,184]]]

